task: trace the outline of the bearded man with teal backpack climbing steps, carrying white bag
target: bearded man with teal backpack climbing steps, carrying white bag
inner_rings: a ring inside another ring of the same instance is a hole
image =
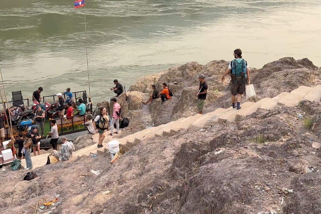
[[[247,61],[242,59],[242,51],[241,49],[234,50],[234,58],[230,64],[229,68],[226,69],[223,74],[222,81],[224,81],[224,77],[231,73],[231,100],[232,107],[240,109],[240,102],[242,99],[242,94],[245,91],[245,84],[250,84],[250,72],[248,70]],[[237,95],[237,98],[236,98]],[[237,104],[235,105],[235,98],[237,99]]]

